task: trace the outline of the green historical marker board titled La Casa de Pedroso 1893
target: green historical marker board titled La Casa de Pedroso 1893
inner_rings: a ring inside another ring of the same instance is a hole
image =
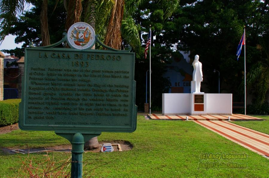
[[[20,128],[135,131],[134,58],[124,51],[26,48]]]

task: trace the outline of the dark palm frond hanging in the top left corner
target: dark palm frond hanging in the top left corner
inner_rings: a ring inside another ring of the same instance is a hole
[[[0,45],[16,17],[22,14],[24,6],[25,0],[0,0]]]

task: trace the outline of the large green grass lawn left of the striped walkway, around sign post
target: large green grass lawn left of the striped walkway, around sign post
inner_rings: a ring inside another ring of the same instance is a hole
[[[134,133],[102,133],[99,141],[126,140],[133,144],[130,151],[84,153],[83,171],[94,169],[93,177],[268,177],[269,160],[224,137],[188,121],[146,120],[137,118]],[[0,135],[0,147],[42,147],[68,141],[53,132],[13,131]],[[201,159],[204,153],[247,154],[247,159]],[[43,162],[47,156],[30,154],[33,162]],[[63,160],[71,153],[49,153],[54,160]],[[1,177],[18,177],[21,159],[27,155],[0,154]],[[247,168],[198,169],[203,163],[239,163]],[[91,174],[90,173],[90,174]],[[87,174],[89,176],[90,174]],[[29,176],[28,176],[29,177]]]

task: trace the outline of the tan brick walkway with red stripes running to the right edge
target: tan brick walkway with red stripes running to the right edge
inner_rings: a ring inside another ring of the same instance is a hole
[[[228,121],[194,120],[199,125],[260,155],[269,157],[269,135]]]

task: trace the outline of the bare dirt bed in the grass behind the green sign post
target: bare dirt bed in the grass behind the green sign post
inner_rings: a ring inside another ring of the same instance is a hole
[[[114,151],[128,151],[133,148],[133,145],[128,142],[128,141],[123,141],[123,140],[114,140],[114,141],[107,141],[107,142],[99,142],[100,146],[99,148],[96,149],[86,149],[84,152],[100,152],[103,143],[111,143]],[[16,154],[16,153],[21,153],[21,154],[28,154],[28,153],[47,153],[47,152],[71,152],[72,150],[72,145],[58,145],[54,147],[49,147],[49,148],[26,148],[26,149],[19,149],[19,148],[1,148],[1,150],[7,154]]]

